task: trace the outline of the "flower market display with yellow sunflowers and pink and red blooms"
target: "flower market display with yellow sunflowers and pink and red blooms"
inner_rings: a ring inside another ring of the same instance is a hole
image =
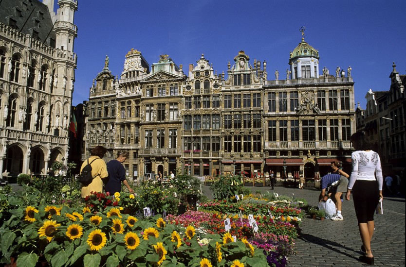
[[[43,198],[34,186],[22,184],[17,192],[6,186],[0,190],[0,264],[286,265],[303,216],[300,201],[249,194],[238,200],[231,194],[248,192],[237,176],[229,185],[222,179],[217,195],[224,199],[199,196],[193,207],[186,196],[199,192],[200,184],[180,178],[173,184],[133,185],[133,194],[93,192],[84,201],[70,202],[76,187],[63,191],[60,186],[55,197]],[[182,205],[185,213],[180,213]]]

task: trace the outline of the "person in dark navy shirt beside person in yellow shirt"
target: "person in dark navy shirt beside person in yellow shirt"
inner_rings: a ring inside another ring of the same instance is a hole
[[[121,182],[129,189],[130,193],[133,193],[129,183],[126,180],[126,170],[122,163],[126,161],[128,153],[126,151],[118,151],[117,159],[113,159],[107,163],[107,172],[109,173],[109,180],[105,185],[106,192],[110,192],[110,195],[114,195],[116,192],[121,191]]]

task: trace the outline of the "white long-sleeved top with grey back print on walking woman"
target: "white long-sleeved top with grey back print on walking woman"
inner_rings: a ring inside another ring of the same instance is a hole
[[[357,150],[351,154],[352,172],[348,189],[352,189],[356,180],[378,181],[379,190],[382,190],[381,159],[375,151]]]

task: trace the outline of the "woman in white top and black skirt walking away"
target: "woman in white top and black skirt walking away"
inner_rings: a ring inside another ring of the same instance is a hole
[[[365,252],[365,255],[359,259],[373,265],[371,251],[374,229],[373,214],[379,198],[383,200],[381,160],[378,153],[370,149],[367,137],[362,132],[352,134],[351,142],[356,151],[351,154],[352,172],[346,199],[350,200],[352,189],[355,214],[363,244],[361,250]]]

